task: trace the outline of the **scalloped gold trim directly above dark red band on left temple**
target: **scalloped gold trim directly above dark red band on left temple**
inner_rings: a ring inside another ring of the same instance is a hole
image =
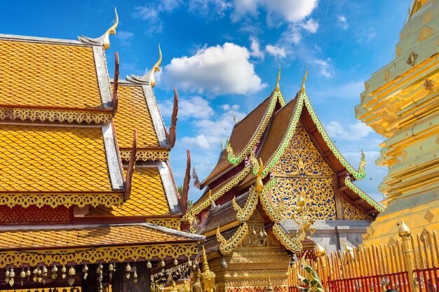
[[[112,207],[114,205],[120,205],[123,203],[122,193],[88,193],[88,194],[29,194],[22,193],[17,195],[0,194],[0,205],[6,204],[6,206],[12,208],[15,205],[27,208],[30,205],[36,205],[36,207],[43,207],[48,205],[50,207],[58,206],[79,206],[85,207],[91,205],[97,207],[98,205],[104,205],[105,207]]]

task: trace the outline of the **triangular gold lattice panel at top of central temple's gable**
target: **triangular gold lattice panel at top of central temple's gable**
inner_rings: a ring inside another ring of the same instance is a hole
[[[278,163],[271,170],[273,174],[333,175],[332,169],[321,157],[302,123],[298,123],[290,144]]]

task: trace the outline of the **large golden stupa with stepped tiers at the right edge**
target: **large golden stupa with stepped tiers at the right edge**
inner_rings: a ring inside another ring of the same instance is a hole
[[[356,117],[386,140],[377,165],[386,210],[364,243],[389,243],[404,221],[414,233],[439,229],[438,1],[415,0],[389,64],[365,82]]]

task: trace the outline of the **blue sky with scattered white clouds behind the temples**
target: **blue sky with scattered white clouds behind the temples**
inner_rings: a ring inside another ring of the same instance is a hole
[[[177,143],[171,165],[177,185],[186,149],[203,179],[234,125],[269,96],[282,67],[290,100],[309,67],[306,90],[335,145],[352,165],[367,159],[358,182],[380,201],[387,169],[376,167],[383,139],[355,119],[353,106],[370,74],[391,61],[410,0],[162,0],[2,1],[0,33],[76,39],[102,35],[119,13],[106,51],[109,71],[119,52],[121,76],[142,75],[163,51],[154,88],[169,124],[173,87],[180,94]],[[201,192],[191,187],[190,198]]]

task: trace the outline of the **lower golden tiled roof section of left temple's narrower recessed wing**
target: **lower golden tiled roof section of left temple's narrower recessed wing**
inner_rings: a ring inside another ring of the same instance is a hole
[[[135,167],[131,195],[119,207],[96,207],[88,216],[156,216],[170,214],[160,172],[156,167]]]

